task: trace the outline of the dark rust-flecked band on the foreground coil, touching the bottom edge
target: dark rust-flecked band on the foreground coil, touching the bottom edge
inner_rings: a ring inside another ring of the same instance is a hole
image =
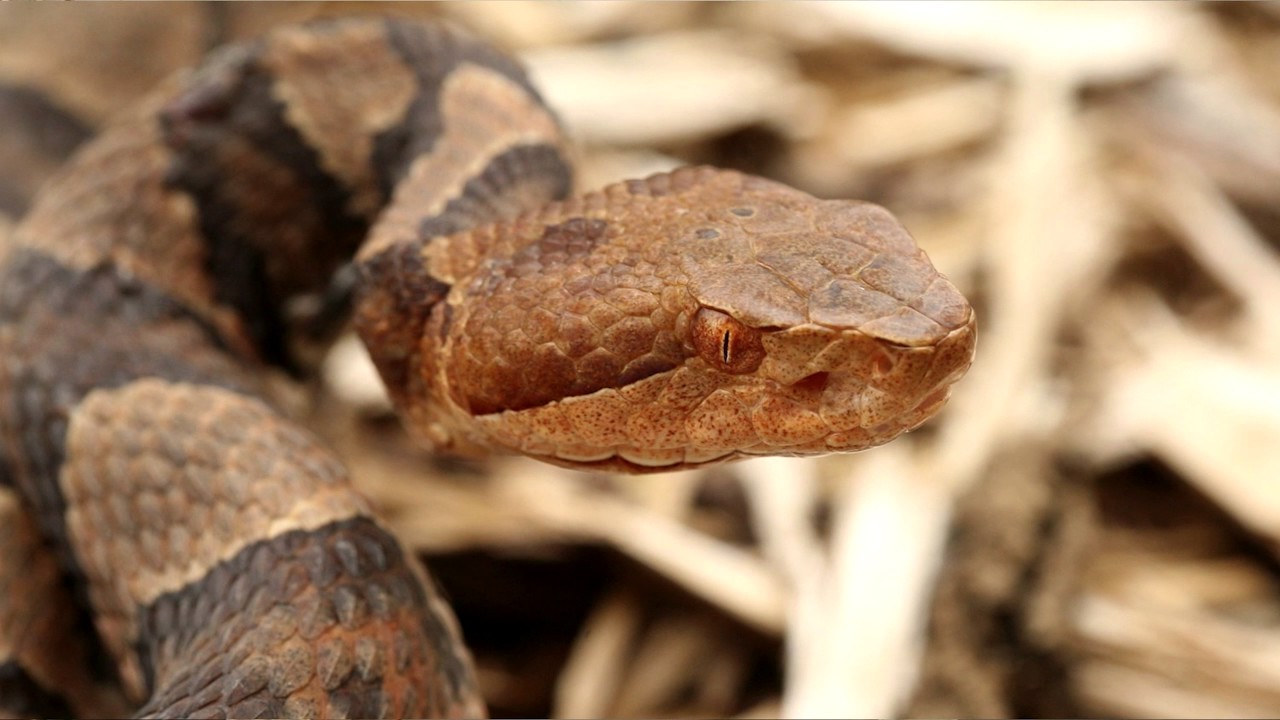
[[[142,615],[145,717],[426,717],[458,706],[447,619],[367,519],[253,543]],[[268,578],[266,582],[261,582]],[[429,648],[434,652],[429,652]]]

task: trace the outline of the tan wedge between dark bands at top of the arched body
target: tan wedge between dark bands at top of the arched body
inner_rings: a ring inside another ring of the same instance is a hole
[[[347,210],[371,217],[384,201],[371,163],[374,137],[399,123],[417,94],[413,70],[383,27],[349,24],[342,42],[285,28],[268,44],[262,63],[274,70],[271,90],[289,124],[320,155],[320,167],[351,188]]]

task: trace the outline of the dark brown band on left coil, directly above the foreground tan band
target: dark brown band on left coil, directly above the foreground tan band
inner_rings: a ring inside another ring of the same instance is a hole
[[[55,539],[64,503],[50,479],[86,393],[143,377],[257,387],[216,334],[152,286],[110,265],[69,269],[32,250],[14,251],[0,268],[0,459]],[[65,543],[56,547],[74,562]]]

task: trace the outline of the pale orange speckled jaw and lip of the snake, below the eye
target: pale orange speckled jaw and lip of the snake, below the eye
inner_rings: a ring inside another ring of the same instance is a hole
[[[882,445],[950,397],[974,347],[968,322],[936,345],[897,346],[858,331],[764,333],[755,373],[701,357],[622,389],[477,418],[512,451],[570,468],[652,473],[753,455],[823,455]]]

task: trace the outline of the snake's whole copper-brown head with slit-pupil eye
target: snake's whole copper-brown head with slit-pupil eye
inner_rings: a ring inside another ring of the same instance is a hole
[[[620,183],[421,258],[398,266],[448,290],[424,295],[402,410],[447,450],[625,471],[861,450],[928,419],[973,356],[973,310],[887,210],[730,170]]]

